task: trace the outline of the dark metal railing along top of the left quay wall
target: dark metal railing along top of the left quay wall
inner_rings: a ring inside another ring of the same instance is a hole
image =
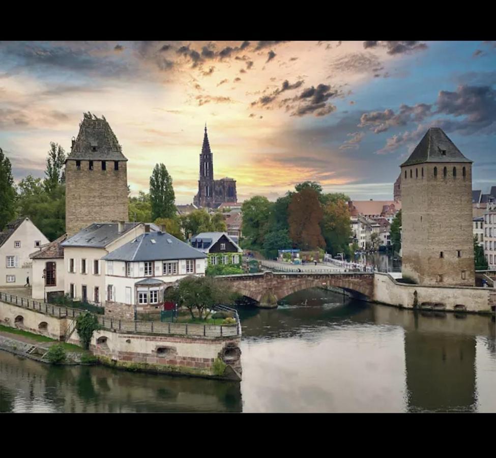
[[[76,318],[86,310],[79,310],[73,307],[48,304],[46,302],[35,301],[34,299],[23,298],[13,294],[0,292],[0,301],[8,302],[19,307],[39,311],[56,318]],[[115,318],[94,315],[103,329],[141,332],[147,334],[172,334],[172,335],[192,335],[203,337],[228,337],[241,335],[241,323],[236,309],[219,306],[219,310],[227,309],[234,313],[236,324],[233,325],[201,325],[190,323],[162,323],[153,321],[127,321]]]

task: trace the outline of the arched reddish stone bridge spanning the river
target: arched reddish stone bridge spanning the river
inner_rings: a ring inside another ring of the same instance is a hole
[[[277,301],[315,287],[335,287],[349,291],[352,295],[363,295],[373,299],[374,274],[370,272],[264,272],[217,277],[226,282],[233,291],[258,302],[260,307],[273,308]]]

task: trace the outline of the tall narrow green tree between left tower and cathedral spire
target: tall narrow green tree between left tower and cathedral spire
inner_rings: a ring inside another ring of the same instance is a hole
[[[152,219],[173,218],[177,209],[174,205],[174,189],[164,164],[156,164],[150,177],[150,203],[152,205]]]

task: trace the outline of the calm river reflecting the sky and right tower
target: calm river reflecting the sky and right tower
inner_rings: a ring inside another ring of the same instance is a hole
[[[241,383],[57,367],[0,351],[0,411],[496,412],[491,317],[320,289],[277,309],[242,307],[240,317]]]

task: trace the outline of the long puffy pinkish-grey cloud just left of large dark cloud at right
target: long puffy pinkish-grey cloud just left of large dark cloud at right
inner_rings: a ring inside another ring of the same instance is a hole
[[[402,104],[396,114],[392,109],[364,113],[358,127],[371,126],[375,133],[386,132],[390,127],[404,126],[410,121],[421,122],[431,116],[432,105],[419,103],[414,106]]]

